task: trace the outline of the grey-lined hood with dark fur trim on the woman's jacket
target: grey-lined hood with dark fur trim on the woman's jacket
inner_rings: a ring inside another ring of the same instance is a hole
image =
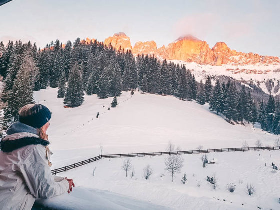
[[[9,126],[5,136],[0,142],[3,152],[11,152],[28,145],[41,144],[47,146],[49,141],[41,139],[37,130],[21,122],[15,122]]]

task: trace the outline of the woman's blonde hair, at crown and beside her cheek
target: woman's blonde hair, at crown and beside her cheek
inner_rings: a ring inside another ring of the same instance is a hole
[[[18,113],[19,113],[20,116],[26,117],[26,116],[31,116],[31,115],[33,115],[33,114],[36,114],[36,113],[39,112],[41,109],[42,109],[42,106],[41,106],[41,105],[37,105],[37,104],[27,104],[27,105],[23,106],[22,108],[20,108],[20,110],[19,110]],[[42,127],[36,128],[36,129],[37,129],[38,136],[39,136],[41,139],[48,140],[48,136],[47,136],[47,134],[45,133],[45,131],[42,129]]]

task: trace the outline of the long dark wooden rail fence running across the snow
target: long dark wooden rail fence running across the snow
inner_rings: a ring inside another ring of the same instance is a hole
[[[188,150],[188,151],[173,151],[173,152],[146,152],[146,153],[127,153],[127,154],[102,154],[96,157],[92,157],[87,160],[76,162],[71,165],[64,167],[56,168],[51,170],[53,175],[57,173],[66,172],[68,170],[80,167],[82,165],[98,161],[103,158],[121,158],[121,157],[144,157],[144,156],[156,156],[156,155],[171,155],[171,154],[200,154],[200,153],[209,153],[209,152],[229,152],[229,151],[249,151],[249,150],[280,150],[280,147],[277,146],[266,146],[266,147],[241,147],[241,148],[220,148],[220,149],[201,149],[201,150]]]

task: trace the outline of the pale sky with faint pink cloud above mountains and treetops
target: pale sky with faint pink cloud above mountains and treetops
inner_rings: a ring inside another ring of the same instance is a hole
[[[13,0],[0,6],[0,40],[103,41],[124,32],[157,47],[191,34],[212,48],[280,57],[279,0]]]

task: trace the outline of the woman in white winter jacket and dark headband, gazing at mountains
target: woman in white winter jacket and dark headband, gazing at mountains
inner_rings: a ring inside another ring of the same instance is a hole
[[[0,142],[0,209],[31,209],[36,198],[72,191],[72,179],[51,174],[50,118],[44,105],[28,104],[20,109],[19,122],[7,129]]]

